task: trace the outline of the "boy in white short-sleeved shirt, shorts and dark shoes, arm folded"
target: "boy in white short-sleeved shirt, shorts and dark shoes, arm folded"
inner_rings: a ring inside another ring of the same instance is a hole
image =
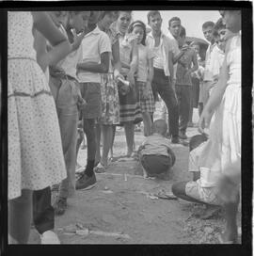
[[[84,132],[87,136],[87,167],[76,182],[76,189],[89,189],[96,184],[93,171],[95,162],[95,120],[101,116],[101,75],[108,72],[111,42],[96,25],[100,11],[91,11],[87,34],[82,40],[82,62],[77,64],[82,97],[87,105],[83,111]]]

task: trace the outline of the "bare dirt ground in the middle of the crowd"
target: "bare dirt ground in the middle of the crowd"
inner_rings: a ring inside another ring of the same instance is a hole
[[[197,121],[197,112],[194,120]],[[197,134],[188,128],[187,136]],[[135,133],[136,148],[143,140]],[[116,157],[124,155],[126,143],[123,129],[117,130],[114,144]],[[177,181],[188,181],[188,147],[172,145],[175,166],[164,180],[142,177],[138,162],[119,158],[105,173],[97,174],[97,184],[87,191],[77,191],[68,199],[68,209],[56,216],[56,232],[62,244],[216,244],[223,231],[220,215],[202,220],[196,214],[204,206],[184,200],[163,200],[154,197],[160,190],[171,192]],[[80,150],[78,163],[86,165],[87,151]],[[56,196],[56,194],[54,195]],[[32,228],[30,244],[39,244],[39,234]]]

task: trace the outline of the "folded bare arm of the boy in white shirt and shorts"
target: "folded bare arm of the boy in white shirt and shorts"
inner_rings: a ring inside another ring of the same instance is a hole
[[[77,64],[77,70],[87,71],[87,72],[100,72],[106,73],[109,69],[109,52],[104,52],[101,54],[101,63],[96,63],[93,61],[87,61]]]

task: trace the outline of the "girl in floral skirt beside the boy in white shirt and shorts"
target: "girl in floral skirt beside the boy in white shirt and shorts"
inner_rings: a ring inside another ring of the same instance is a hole
[[[101,96],[102,96],[102,115],[97,124],[96,134],[96,157],[99,162],[94,168],[96,172],[103,172],[108,165],[108,152],[113,140],[113,125],[119,124],[119,92],[118,92],[118,77],[124,80],[124,77],[119,73],[119,40],[117,35],[113,35],[109,29],[118,18],[117,11],[102,11],[98,27],[107,35],[112,45],[112,56],[110,59],[109,72],[101,74]],[[113,66],[113,67],[112,67]],[[103,156],[101,158],[100,141],[101,130],[103,132]]]

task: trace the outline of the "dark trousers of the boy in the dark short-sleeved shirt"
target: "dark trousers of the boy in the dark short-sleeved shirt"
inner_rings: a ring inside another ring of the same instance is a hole
[[[185,133],[188,126],[188,121],[189,121],[192,87],[176,85],[176,94],[177,94],[178,104],[179,104],[179,118],[180,118],[179,130]]]

